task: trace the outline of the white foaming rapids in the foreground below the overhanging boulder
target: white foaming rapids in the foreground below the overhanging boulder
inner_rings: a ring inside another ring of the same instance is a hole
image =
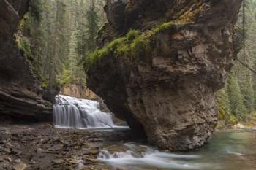
[[[159,152],[152,147],[125,144],[125,152],[99,152],[98,159],[120,169],[208,169],[211,163],[195,163],[199,155],[181,155]],[[141,150],[143,150],[141,152]],[[214,169],[218,169],[215,166]]]

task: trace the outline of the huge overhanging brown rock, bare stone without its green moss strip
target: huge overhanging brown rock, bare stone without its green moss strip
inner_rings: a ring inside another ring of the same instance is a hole
[[[109,0],[99,47],[131,29],[154,38],[149,36],[149,52],[137,58],[117,56],[121,47],[112,47],[89,67],[89,88],[158,147],[200,147],[217,124],[214,92],[224,86],[236,58],[240,7],[241,0]]]

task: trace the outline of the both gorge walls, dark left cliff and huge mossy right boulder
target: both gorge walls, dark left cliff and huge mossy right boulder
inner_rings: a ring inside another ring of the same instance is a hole
[[[217,124],[214,93],[239,51],[241,2],[107,1],[98,48],[81,61],[88,88],[151,144],[169,151],[202,146]],[[59,90],[42,88],[14,39],[29,4],[0,1],[0,115],[44,120],[53,116]]]

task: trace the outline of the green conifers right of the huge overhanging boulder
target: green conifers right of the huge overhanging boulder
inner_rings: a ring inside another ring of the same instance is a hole
[[[236,45],[239,48],[242,47],[240,53],[238,53],[238,58],[240,61],[244,61],[249,67],[256,70],[256,45],[255,45],[255,31],[256,31],[256,1],[248,0],[246,1],[246,22],[245,22],[245,34],[246,39],[243,39],[243,15],[242,11],[238,15],[238,23],[236,26]],[[243,43],[245,42],[245,47]],[[227,108],[219,108],[219,112],[224,112],[224,117],[228,117],[230,114],[230,119],[227,119],[227,123],[233,124],[238,121],[251,122],[253,119],[256,109],[256,75],[251,71],[246,69],[241,63],[235,62],[235,66],[232,70],[233,74],[230,74],[228,78],[227,88],[225,88],[225,95],[228,96],[230,100],[230,108],[232,111],[229,113]],[[217,98],[217,103],[222,102],[221,98]],[[223,103],[223,102],[222,102]],[[223,105],[223,104],[222,104]],[[224,117],[219,117],[220,120],[225,120]],[[236,119],[235,119],[236,117]]]

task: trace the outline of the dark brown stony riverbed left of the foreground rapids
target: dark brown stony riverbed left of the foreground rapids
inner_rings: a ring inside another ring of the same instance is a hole
[[[109,169],[97,161],[106,142],[131,142],[129,131],[56,129],[47,123],[0,125],[0,170]]]

